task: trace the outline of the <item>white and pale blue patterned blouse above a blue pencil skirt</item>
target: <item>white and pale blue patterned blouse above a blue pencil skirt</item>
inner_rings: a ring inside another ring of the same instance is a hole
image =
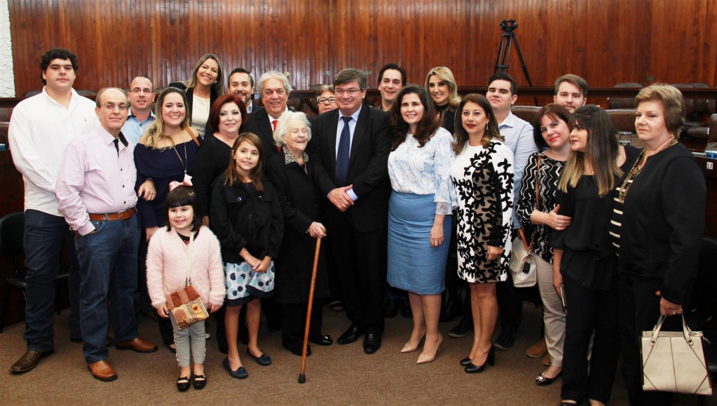
[[[455,160],[453,136],[445,128],[419,148],[411,134],[389,155],[391,188],[396,192],[434,194],[436,214],[451,214],[456,206],[450,166]]]

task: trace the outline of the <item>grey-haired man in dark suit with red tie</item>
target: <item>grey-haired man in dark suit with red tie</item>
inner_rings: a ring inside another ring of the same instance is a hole
[[[274,141],[276,121],[286,111],[286,100],[292,88],[284,74],[273,70],[262,75],[257,86],[264,108],[249,115],[249,123],[245,131],[255,133],[261,138],[266,162],[277,153],[276,141]]]

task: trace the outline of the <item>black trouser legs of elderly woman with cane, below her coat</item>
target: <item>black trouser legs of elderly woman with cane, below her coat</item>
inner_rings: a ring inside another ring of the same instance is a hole
[[[309,336],[321,335],[323,324],[323,299],[315,299],[311,308],[311,325]],[[300,349],[304,344],[306,328],[306,311],[308,303],[281,304],[281,318],[284,323],[281,329],[282,345],[290,349]]]

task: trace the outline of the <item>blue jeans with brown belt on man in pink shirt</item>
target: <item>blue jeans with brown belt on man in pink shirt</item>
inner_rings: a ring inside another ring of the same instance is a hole
[[[134,293],[137,290],[137,216],[125,220],[92,221],[95,232],[75,239],[80,260],[80,325],[85,362],[107,359],[108,296],[112,296],[115,340],[136,339]]]

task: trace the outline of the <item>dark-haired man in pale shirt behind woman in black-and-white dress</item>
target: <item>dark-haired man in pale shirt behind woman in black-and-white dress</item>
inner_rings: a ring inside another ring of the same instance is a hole
[[[535,141],[533,141],[533,126],[511,113],[511,106],[518,100],[516,89],[516,81],[513,80],[513,77],[499,72],[488,80],[488,93],[485,95],[493,107],[500,135],[505,137],[505,145],[513,151],[515,164],[513,196],[518,196],[521,189],[523,169],[526,167],[528,158],[538,151]],[[521,222],[513,209],[513,232],[519,227],[521,227]],[[496,294],[498,295],[501,331],[494,345],[498,349],[509,349],[515,342],[516,333],[523,318],[523,298],[513,286],[511,273],[508,273],[508,280],[496,285]]]

